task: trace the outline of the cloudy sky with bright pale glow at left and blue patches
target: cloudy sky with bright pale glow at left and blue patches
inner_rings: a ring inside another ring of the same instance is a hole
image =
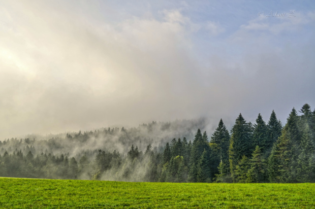
[[[0,140],[315,108],[313,1],[1,1]],[[209,131],[211,133],[211,128]]]

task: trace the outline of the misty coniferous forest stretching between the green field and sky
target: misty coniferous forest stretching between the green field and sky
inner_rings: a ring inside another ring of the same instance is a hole
[[[283,126],[272,111],[254,124],[221,119],[152,122],[137,128],[0,141],[0,176],[135,182],[315,182],[315,110],[293,108]],[[192,134],[194,133],[194,134]],[[173,138],[173,140],[170,140]]]

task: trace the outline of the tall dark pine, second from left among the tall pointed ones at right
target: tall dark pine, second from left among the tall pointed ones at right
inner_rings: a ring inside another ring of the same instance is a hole
[[[235,170],[239,161],[245,155],[250,157],[253,152],[253,133],[250,123],[246,123],[241,114],[232,128],[232,136],[229,147],[230,171],[233,182],[236,181]]]

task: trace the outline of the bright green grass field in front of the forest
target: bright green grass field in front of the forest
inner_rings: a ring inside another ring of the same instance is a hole
[[[0,208],[315,208],[315,184],[0,178]]]

